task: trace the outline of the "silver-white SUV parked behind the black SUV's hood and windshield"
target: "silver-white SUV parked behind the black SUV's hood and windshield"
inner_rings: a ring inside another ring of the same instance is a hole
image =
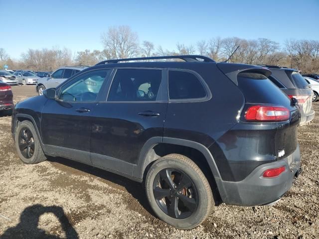
[[[75,75],[76,73],[82,71],[87,67],[82,66],[64,66],[58,68],[55,72],[48,77],[43,77],[38,80],[36,86],[36,92],[41,96],[43,94],[43,90],[48,88],[56,88],[66,79],[70,78],[71,76]]]

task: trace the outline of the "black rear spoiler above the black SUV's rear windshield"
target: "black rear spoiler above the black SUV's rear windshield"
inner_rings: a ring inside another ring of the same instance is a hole
[[[262,74],[266,77],[271,75],[271,70],[261,66],[232,64],[219,62],[216,64],[218,69],[224,73],[236,86],[238,86],[237,75],[241,72],[254,72]]]

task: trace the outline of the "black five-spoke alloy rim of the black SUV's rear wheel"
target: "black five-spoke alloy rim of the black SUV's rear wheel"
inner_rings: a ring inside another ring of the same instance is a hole
[[[192,180],[173,168],[160,170],[153,183],[153,194],[160,209],[174,219],[190,217],[197,209],[197,190]]]

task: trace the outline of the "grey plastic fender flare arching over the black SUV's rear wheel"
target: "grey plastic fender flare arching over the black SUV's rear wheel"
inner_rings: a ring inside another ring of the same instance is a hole
[[[200,151],[210,167],[210,170],[214,177],[221,178],[219,170],[217,168],[216,162],[214,157],[212,156],[211,152],[205,147],[203,144],[200,144],[195,141],[181,139],[181,138],[170,138],[170,137],[153,137],[150,138],[143,146],[141,153],[139,155],[138,164],[135,165],[133,170],[133,176],[137,178],[143,179],[144,172],[146,167],[154,161],[152,157],[148,157],[149,151],[159,143],[169,143],[169,144],[176,144],[181,146],[186,146],[190,148],[197,149]]]

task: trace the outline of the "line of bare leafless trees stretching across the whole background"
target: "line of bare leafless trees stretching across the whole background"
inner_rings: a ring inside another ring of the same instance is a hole
[[[144,40],[129,26],[110,27],[101,34],[103,50],[88,50],[72,53],[68,48],[28,49],[21,54],[20,60],[13,60],[0,48],[0,64],[9,65],[10,69],[28,69],[34,71],[54,71],[60,66],[92,66],[102,60],[150,57],[164,55],[208,56],[215,61],[225,61],[234,50],[229,62],[245,64],[267,64],[296,68],[304,73],[319,73],[318,40],[286,40],[283,45],[267,38],[253,40],[238,37],[214,37],[198,40],[185,45],[177,42],[175,49],[164,49],[160,45]]]

